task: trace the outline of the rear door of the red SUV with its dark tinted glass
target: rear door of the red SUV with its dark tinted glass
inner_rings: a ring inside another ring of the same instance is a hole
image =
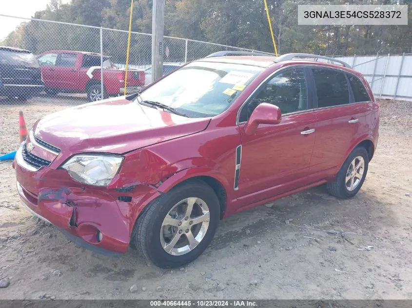
[[[336,173],[355,140],[368,129],[366,117],[373,112],[373,104],[355,75],[320,67],[311,72],[317,121],[311,174],[324,178]]]

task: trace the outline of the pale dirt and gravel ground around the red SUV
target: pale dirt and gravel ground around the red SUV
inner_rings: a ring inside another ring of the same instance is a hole
[[[31,127],[67,100],[0,100],[0,153],[18,146],[19,110]],[[0,163],[0,279],[10,280],[0,298],[412,299],[412,103],[380,106],[378,148],[355,198],[321,186],[237,214],[175,270],[132,249],[111,258],[78,248],[23,208],[11,163]]]

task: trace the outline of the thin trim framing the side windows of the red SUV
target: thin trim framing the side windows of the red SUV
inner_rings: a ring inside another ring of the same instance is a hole
[[[242,108],[246,105],[246,103],[249,101],[249,99],[255,94],[255,92],[256,92],[266,81],[268,81],[268,79],[270,79],[273,75],[275,75],[276,73],[281,72],[281,71],[283,71],[283,70],[285,70],[285,69],[291,68],[291,67],[301,67],[301,68],[306,68],[306,67],[309,67],[309,68],[326,68],[326,69],[330,69],[330,70],[339,70],[339,71],[342,71],[342,72],[344,72],[344,73],[351,74],[351,75],[353,75],[353,76],[355,76],[356,78],[359,79],[359,77],[356,76],[354,73],[348,72],[348,71],[343,70],[343,69],[341,69],[341,68],[324,67],[324,66],[322,66],[322,65],[315,65],[315,64],[292,64],[292,65],[288,65],[288,66],[286,66],[286,67],[279,68],[279,69],[277,69],[275,72],[273,72],[273,73],[271,73],[269,76],[267,76],[267,77],[255,88],[255,90],[245,99],[245,101],[243,102],[242,106],[240,106],[240,108],[237,110],[237,113],[236,113],[236,125],[237,125],[237,126],[239,126],[239,125],[241,125],[241,124],[245,124],[245,123],[247,122],[247,121],[239,122],[240,111],[241,111]],[[360,81],[362,82],[362,80],[360,80]],[[363,84],[363,82],[362,82],[362,84]],[[365,85],[364,85],[364,86],[365,86]],[[349,84],[348,84],[348,87],[349,87]],[[366,87],[365,87],[365,88],[366,88]],[[368,93],[368,96],[369,96],[369,93]],[[371,97],[369,96],[369,98],[371,98]],[[330,108],[336,108],[336,107],[342,107],[342,106],[351,106],[351,105],[355,105],[355,104],[364,104],[364,103],[370,103],[370,102],[373,102],[373,101],[370,100],[370,101],[365,101],[365,102],[354,102],[354,103],[342,104],[342,105],[336,105],[336,106],[328,106],[328,107],[320,107],[320,108],[312,108],[312,109],[300,110],[300,111],[295,111],[295,112],[289,112],[289,113],[282,114],[282,118],[283,118],[283,117],[290,116],[290,115],[295,115],[295,114],[300,114],[300,113],[306,113],[306,112],[309,112],[309,111],[316,111],[316,110],[322,110],[322,109],[330,109]]]

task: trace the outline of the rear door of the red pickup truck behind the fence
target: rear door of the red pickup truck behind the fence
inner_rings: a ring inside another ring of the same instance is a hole
[[[77,54],[59,53],[56,61],[57,88],[78,90]]]

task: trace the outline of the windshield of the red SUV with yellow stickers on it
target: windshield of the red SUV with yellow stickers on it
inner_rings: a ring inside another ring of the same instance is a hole
[[[264,68],[216,62],[192,62],[140,93],[189,117],[210,117],[228,109]]]

